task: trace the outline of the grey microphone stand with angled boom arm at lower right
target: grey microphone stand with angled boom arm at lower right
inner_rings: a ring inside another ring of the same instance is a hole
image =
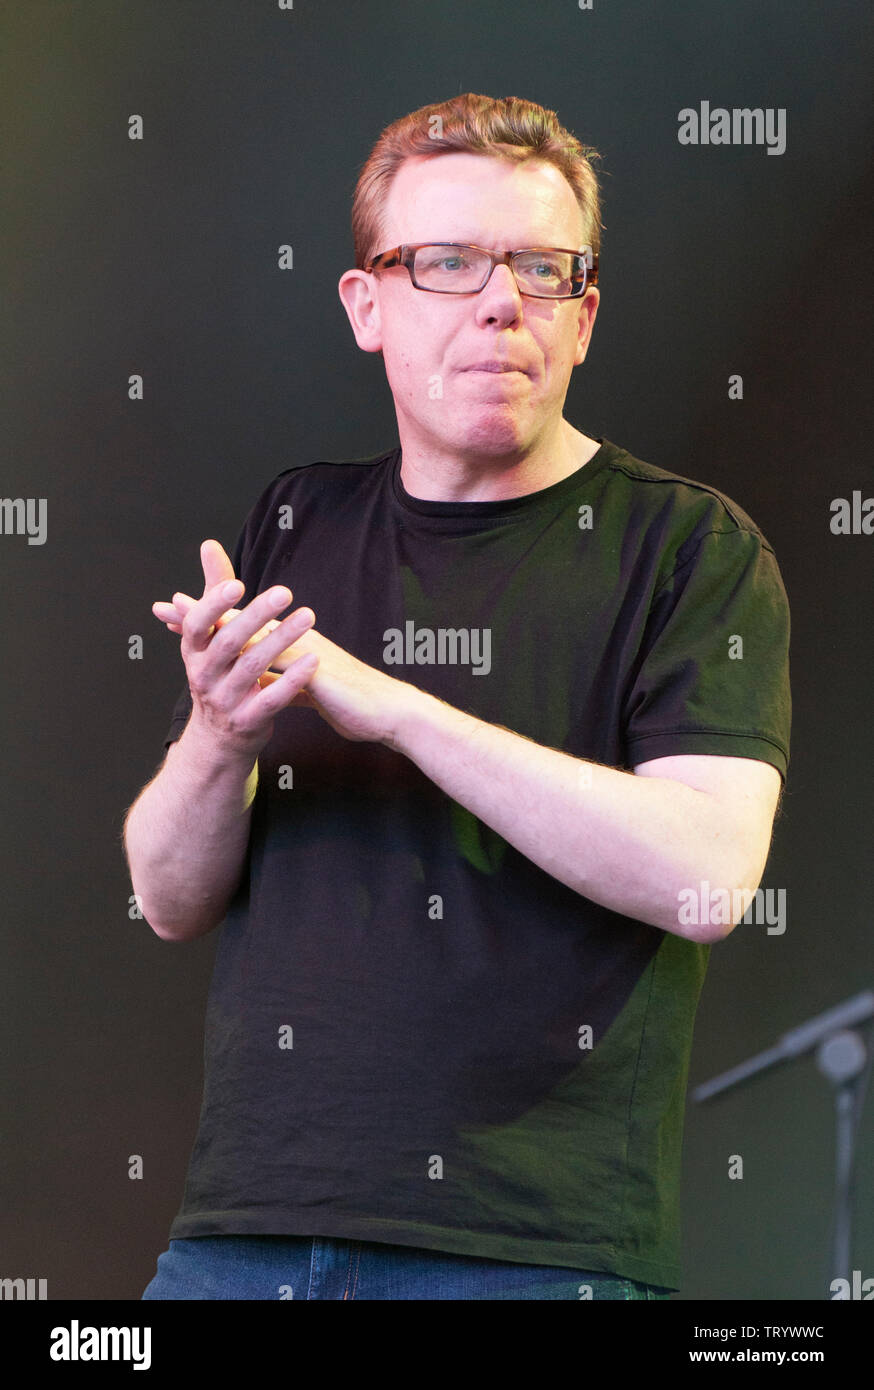
[[[799,1027],[784,1033],[774,1047],[748,1058],[721,1076],[704,1081],[692,1091],[692,1099],[703,1102],[741,1086],[750,1077],[767,1072],[782,1062],[793,1062],[816,1049],[818,1070],[832,1087],[835,1104],[835,1195],[831,1225],[831,1269],[834,1280],[846,1280],[852,1295],[861,1298],[853,1284],[853,1184],[856,1176],[856,1140],[864,1105],[864,1093],[871,1073],[874,1049],[857,1027],[874,1019],[874,992],[864,990],[834,1009],[827,1009]],[[850,1294],[848,1294],[850,1297]]]

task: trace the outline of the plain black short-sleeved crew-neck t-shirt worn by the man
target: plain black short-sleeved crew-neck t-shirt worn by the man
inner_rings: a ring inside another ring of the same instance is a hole
[[[545,746],[785,776],[771,546],[714,488],[607,439],[500,502],[410,496],[399,449],[288,468],[233,562],[245,602],[286,584],[360,660]],[[186,688],[167,742],[189,713]],[[678,1289],[709,952],[559,883],[402,753],[283,710],[171,1238],[333,1236]]]

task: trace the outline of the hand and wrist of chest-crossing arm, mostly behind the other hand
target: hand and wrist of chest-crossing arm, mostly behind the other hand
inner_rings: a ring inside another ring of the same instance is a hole
[[[207,545],[217,545],[217,542],[206,541],[204,546]],[[221,550],[221,548],[218,549]],[[221,550],[221,555],[224,556],[224,550]],[[231,573],[233,573],[228,557],[224,556],[224,559]],[[395,680],[395,677],[386,676],[372,666],[367,666],[365,662],[360,662],[342,646],[338,646],[336,642],[331,642],[321,632],[317,632],[311,626],[308,630],[295,631],[286,628],[286,624],[292,621],[290,619],[286,619],[285,623],[277,623],[268,616],[270,609],[258,606],[265,596],[261,595],[258,599],[253,599],[245,610],[247,614],[253,614],[247,628],[236,630],[236,624],[242,617],[239,610],[226,609],[221,613],[218,612],[221,600],[217,607],[210,609],[208,613],[203,613],[200,621],[206,621],[210,617],[215,624],[215,630],[222,630],[222,635],[224,628],[233,623],[235,635],[239,631],[239,635],[246,638],[246,645],[239,648],[243,660],[247,657],[249,648],[252,646],[263,649],[263,655],[270,655],[268,662],[258,662],[261,673],[258,682],[261,689],[272,689],[274,684],[278,685],[281,681],[286,681],[289,671],[300,669],[300,662],[304,656],[315,657],[318,666],[314,673],[304,682],[300,682],[293,696],[285,698],[282,705],[311,706],[343,738],[390,745],[403,710],[415,698],[415,687]],[[189,614],[203,603],[204,599],[200,599],[197,603],[188,594],[174,594],[172,603],[154,603],[151,610],[172,632],[181,631],[185,634],[186,624],[190,621]],[[274,605],[274,612],[277,607],[281,609],[282,605]],[[299,612],[311,610],[302,609]],[[257,619],[263,620],[260,628],[257,627]],[[279,632],[279,628],[283,631]],[[221,642],[222,635],[214,641]],[[268,670],[268,666],[272,666],[281,674]],[[306,689],[303,688],[304,685]],[[285,691],[286,687],[283,687]]]

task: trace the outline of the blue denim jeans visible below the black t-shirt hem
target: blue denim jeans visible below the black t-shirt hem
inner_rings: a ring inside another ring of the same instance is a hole
[[[589,1293],[591,1290],[591,1293]],[[143,1298],[670,1298],[620,1275],[331,1236],[171,1240]]]

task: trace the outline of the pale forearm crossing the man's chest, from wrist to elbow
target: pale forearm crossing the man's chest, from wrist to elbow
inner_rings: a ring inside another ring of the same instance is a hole
[[[520,853],[593,902],[678,935],[678,894],[727,880],[720,809],[684,783],[586,763],[414,687],[390,746]]]

